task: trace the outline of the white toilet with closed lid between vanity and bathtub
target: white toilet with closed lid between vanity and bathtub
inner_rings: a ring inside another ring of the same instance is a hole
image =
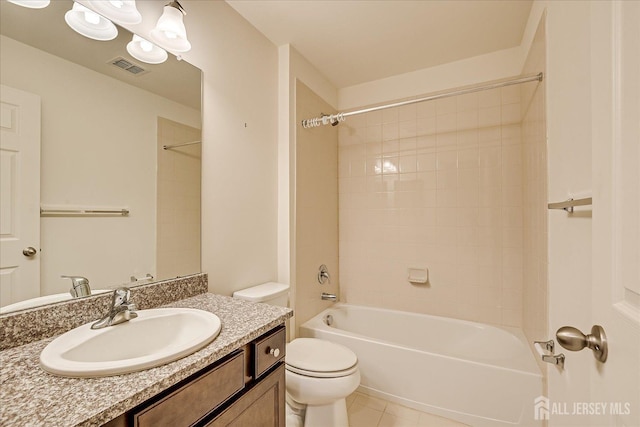
[[[286,307],[288,291],[288,285],[269,282],[233,296]],[[287,427],[348,427],[345,398],[360,385],[353,351],[326,340],[297,338],[287,344],[285,367]]]

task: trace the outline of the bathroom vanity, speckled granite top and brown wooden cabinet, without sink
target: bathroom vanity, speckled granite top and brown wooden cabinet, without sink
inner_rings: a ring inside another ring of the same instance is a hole
[[[152,308],[132,297],[142,309]],[[210,311],[222,322],[220,334],[175,362],[100,378],[43,371],[39,355],[53,337],[7,348],[0,352],[0,425],[285,425],[284,324],[290,309],[211,293],[162,306]],[[6,319],[0,326],[3,339],[18,329]]]

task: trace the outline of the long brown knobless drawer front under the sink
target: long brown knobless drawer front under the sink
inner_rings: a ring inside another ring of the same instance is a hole
[[[244,388],[244,351],[133,414],[136,427],[190,426]]]

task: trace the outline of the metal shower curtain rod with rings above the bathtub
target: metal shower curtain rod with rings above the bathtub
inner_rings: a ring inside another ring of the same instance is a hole
[[[541,82],[542,78],[543,78],[542,73],[521,76],[521,77],[513,77],[507,80],[500,80],[498,82],[493,82],[493,83],[485,83],[478,86],[467,87],[465,89],[458,89],[458,90],[452,90],[449,92],[436,93],[434,95],[428,95],[418,99],[411,99],[409,101],[395,102],[393,104],[386,104],[386,105],[380,105],[377,107],[365,108],[362,110],[349,111],[347,113],[336,113],[336,114],[330,114],[330,115],[323,114],[321,117],[314,117],[312,119],[303,120],[302,127],[304,129],[308,129],[308,128],[313,128],[313,127],[328,125],[328,124],[335,126],[339,122],[345,121],[347,117],[355,116],[356,114],[364,114],[364,113],[369,113],[371,111],[378,111],[378,110],[384,110],[387,108],[401,107],[403,105],[416,104],[418,102],[433,101],[441,98],[449,98],[451,96],[465,95],[467,93],[479,92],[481,90],[488,90],[488,89],[496,89],[499,87],[517,85],[520,83],[528,83],[533,81]]]

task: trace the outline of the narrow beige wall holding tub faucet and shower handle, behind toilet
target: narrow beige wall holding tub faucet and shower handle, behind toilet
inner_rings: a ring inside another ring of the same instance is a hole
[[[303,83],[296,85],[296,117],[332,114],[329,104]],[[297,124],[295,173],[295,323],[298,327],[332,303],[322,292],[339,294],[338,266],[338,129],[303,129]],[[325,264],[331,283],[320,285]]]

